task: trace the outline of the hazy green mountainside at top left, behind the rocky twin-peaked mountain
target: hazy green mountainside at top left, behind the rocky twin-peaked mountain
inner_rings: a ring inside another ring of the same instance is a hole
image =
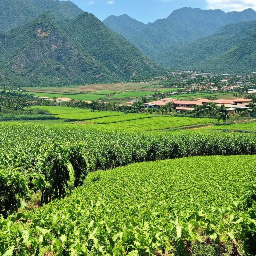
[[[46,9],[52,10],[61,19],[73,18],[83,12],[71,1],[1,0],[0,32],[28,23]]]

